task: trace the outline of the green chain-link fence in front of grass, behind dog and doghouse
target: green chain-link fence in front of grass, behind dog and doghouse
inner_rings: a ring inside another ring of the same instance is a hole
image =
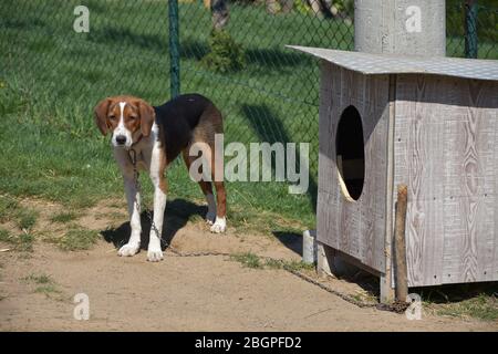
[[[76,129],[79,138],[95,132],[89,118],[74,122],[80,116],[75,112],[87,117],[104,96],[127,93],[160,104],[172,92],[198,92],[224,112],[226,142],[310,143],[313,181],[319,66],[286,44],[353,50],[353,4],[2,0],[0,84],[18,85],[22,100],[46,112],[41,126]],[[81,30],[85,10],[80,6],[89,11],[89,31]],[[172,23],[175,12],[178,22]],[[498,59],[496,20],[497,10],[490,7],[448,1],[447,54]],[[170,31],[179,33],[177,55]],[[172,72],[179,73],[178,82],[170,81]],[[54,121],[53,110],[68,121]],[[312,195],[313,189],[312,183]]]

